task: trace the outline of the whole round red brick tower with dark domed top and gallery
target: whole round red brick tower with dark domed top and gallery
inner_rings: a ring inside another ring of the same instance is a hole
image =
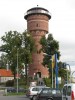
[[[39,53],[41,37],[48,33],[48,21],[51,18],[49,11],[41,7],[27,10],[24,18],[27,20],[27,30],[32,33],[37,51],[32,54],[33,62],[29,65],[29,76],[37,78],[48,77],[48,69],[42,65],[43,52]]]

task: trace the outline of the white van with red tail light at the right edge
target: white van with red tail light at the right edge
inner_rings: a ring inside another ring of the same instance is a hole
[[[62,100],[75,100],[75,83],[68,83],[63,86]]]

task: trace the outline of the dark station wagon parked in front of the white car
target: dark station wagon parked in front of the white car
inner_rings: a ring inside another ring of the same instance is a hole
[[[62,92],[60,89],[44,88],[36,100],[62,100]]]

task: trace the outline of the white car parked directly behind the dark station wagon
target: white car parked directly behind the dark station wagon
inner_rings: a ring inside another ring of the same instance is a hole
[[[26,92],[26,96],[30,99],[30,100],[36,100],[37,94],[46,86],[32,86],[29,87],[28,91]]]

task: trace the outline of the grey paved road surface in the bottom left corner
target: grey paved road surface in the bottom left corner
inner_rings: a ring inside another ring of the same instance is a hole
[[[0,100],[29,100],[26,96],[0,96]]]

